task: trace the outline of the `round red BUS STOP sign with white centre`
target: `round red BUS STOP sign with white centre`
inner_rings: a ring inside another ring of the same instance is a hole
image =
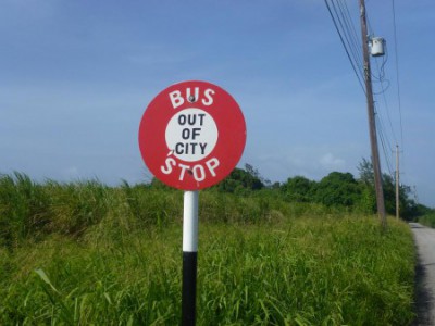
[[[139,148],[151,173],[184,190],[215,185],[244,152],[246,124],[233,97],[207,82],[183,82],[160,92],[139,127]]]

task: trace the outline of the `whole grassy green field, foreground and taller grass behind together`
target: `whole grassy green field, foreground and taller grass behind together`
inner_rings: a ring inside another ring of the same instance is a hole
[[[177,325],[182,192],[0,178],[0,325]],[[198,325],[409,325],[409,227],[200,193]]]

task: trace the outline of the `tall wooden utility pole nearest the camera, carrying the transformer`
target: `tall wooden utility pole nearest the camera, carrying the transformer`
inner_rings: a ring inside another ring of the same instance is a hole
[[[374,172],[374,186],[375,186],[375,190],[376,190],[377,215],[380,216],[380,220],[381,220],[381,226],[385,230],[387,227],[387,220],[386,220],[386,215],[385,215],[384,191],[382,189],[380,151],[377,148],[376,125],[375,125],[375,117],[374,117],[372,72],[371,72],[371,67],[370,67],[369,38],[368,38],[368,27],[366,27],[366,17],[365,17],[365,1],[364,0],[359,0],[359,1],[360,1],[360,15],[361,15],[362,52],[363,52],[363,59],[364,59],[365,95],[366,95],[366,101],[368,101],[370,145],[372,148],[372,164],[373,164],[373,172]]]

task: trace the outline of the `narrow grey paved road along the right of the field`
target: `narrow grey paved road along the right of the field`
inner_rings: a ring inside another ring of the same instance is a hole
[[[417,268],[417,325],[435,325],[435,229],[410,223],[419,252]]]

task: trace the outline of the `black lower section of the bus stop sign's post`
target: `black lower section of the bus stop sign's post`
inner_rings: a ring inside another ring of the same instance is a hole
[[[182,325],[196,324],[198,252],[183,252]]]

